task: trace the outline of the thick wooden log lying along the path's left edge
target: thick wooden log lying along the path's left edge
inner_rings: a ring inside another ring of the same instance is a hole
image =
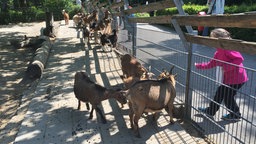
[[[42,43],[42,47],[38,48],[35,52],[33,61],[28,66],[26,74],[29,78],[40,78],[48,60],[49,52],[51,49],[50,39],[46,37],[46,41]]]

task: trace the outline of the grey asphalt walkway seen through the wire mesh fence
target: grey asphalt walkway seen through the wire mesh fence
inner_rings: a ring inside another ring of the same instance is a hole
[[[129,33],[132,33],[131,41]],[[188,51],[174,30],[159,25],[125,23],[124,27],[122,23],[119,26],[118,38],[120,51],[133,54],[145,67],[151,66],[151,71],[156,75],[163,68],[168,70],[171,65],[175,66],[174,72],[178,74],[176,99],[185,103],[185,118],[212,142],[256,143],[256,65],[253,56],[242,54],[249,80],[235,96],[241,119],[227,121],[221,119],[222,115],[230,111],[224,103],[217,103],[220,109],[213,118],[198,110],[198,107],[208,107],[210,102],[214,102],[215,92],[223,84],[216,80],[216,68],[199,70],[194,66],[195,62],[210,61],[215,52],[214,48],[192,44],[192,51]],[[226,64],[228,67],[238,67]]]

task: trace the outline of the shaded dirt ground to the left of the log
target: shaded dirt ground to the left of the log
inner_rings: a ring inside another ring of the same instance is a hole
[[[22,97],[33,91],[37,80],[25,77],[26,69],[33,59],[35,49],[20,48],[13,43],[28,37],[40,35],[45,22],[22,23],[0,26],[0,141],[15,136],[17,125],[22,118],[17,118]],[[16,120],[12,120],[12,119]],[[10,121],[16,121],[10,125]],[[6,141],[6,140],[5,140]],[[6,141],[8,142],[8,140]]]

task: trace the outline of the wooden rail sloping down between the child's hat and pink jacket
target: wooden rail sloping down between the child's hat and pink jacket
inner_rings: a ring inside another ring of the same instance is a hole
[[[191,34],[185,34],[185,38],[188,42],[191,43],[206,45],[215,48],[219,47],[228,50],[236,50],[250,55],[256,54],[256,42],[248,42],[237,39],[217,39]]]

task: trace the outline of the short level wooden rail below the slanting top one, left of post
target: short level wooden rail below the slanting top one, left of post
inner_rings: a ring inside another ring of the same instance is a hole
[[[144,17],[144,18],[128,18],[131,23],[150,23],[150,24],[170,24],[172,16],[156,16],[156,17]]]

